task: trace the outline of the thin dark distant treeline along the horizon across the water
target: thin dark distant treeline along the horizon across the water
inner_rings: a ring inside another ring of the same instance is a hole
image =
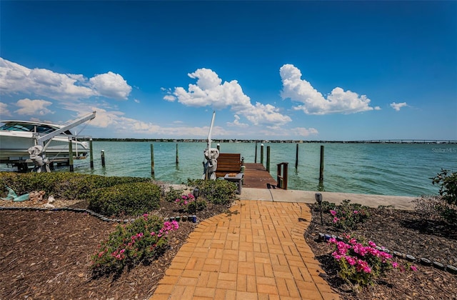
[[[93,141],[155,141],[169,143],[194,143],[204,142],[206,139],[93,139]],[[213,143],[342,143],[342,144],[457,144],[453,140],[418,140],[418,139],[389,139],[367,141],[302,141],[302,140],[261,140],[261,139],[214,139]]]

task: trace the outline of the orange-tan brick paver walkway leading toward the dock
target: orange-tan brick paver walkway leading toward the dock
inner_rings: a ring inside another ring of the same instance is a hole
[[[306,204],[237,201],[201,222],[150,300],[339,299],[306,244]]]

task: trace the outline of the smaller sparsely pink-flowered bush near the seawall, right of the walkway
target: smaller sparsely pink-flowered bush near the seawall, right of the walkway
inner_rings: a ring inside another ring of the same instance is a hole
[[[351,200],[343,200],[341,205],[329,210],[333,216],[332,225],[335,228],[343,230],[354,229],[358,223],[365,221],[370,216],[367,206],[350,202]]]

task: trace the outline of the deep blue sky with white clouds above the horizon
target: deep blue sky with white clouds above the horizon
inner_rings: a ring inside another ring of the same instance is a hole
[[[456,1],[0,1],[0,119],[81,134],[457,139]]]

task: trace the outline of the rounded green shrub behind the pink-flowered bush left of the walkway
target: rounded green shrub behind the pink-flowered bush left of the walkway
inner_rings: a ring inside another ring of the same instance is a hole
[[[89,209],[106,216],[139,216],[159,207],[161,189],[151,182],[117,184],[91,191]]]

